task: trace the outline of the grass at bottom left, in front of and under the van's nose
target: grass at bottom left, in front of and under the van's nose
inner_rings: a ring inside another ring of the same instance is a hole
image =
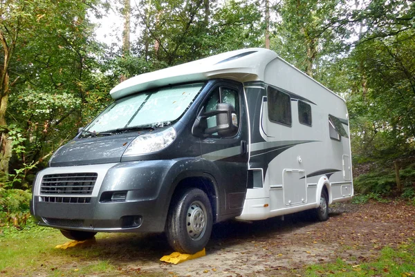
[[[70,240],[56,229],[31,227],[16,231],[13,227],[3,227],[0,233],[0,276],[167,276],[165,272],[140,272],[140,269],[121,268],[120,260],[128,238],[122,234],[100,233],[93,245],[78,245],[68,249],[55,249]],[[119,238],[120,237],[120,238]],[[105,242],[113,242],[108,245]],[[133,247],[133,246],[132,246]],[[114,253],[115,252],[115,253]],[[160,257],[158,257],[160,258]],[[135,259],[135,257],[134,257]],[[127,260],[128,262],[129,260]],[[154,275],[156,274],[156,275]]]

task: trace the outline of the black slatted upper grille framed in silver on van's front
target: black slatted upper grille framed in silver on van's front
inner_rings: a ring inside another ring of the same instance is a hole
[[[74,195],[91,195],[98,173],[63,173],[44,175],[40,193]],[[57,201],[48,201],[57,202]]]

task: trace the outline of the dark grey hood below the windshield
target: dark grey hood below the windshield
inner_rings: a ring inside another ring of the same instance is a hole
[[[140,134],[131,132],[106,137],[75,139],[53,154],[50,166],[77,166],[121,162],[127,146]]]

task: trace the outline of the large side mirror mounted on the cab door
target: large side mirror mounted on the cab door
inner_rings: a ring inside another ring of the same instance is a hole
[[[216,115],[216,126],[208,128],[209,117]],[[192,127],[192,134],[197,137],[208,137],[218,133],[221,137],[230,137],[238,131],[237,114],[232,105],[219,103],[216,110],[205,113],[203,109]]]

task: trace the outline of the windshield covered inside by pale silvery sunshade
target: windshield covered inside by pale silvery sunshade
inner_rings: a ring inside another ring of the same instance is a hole
[[[167,126],[185,113],[202,87],[203,83],[187,84],[151,90],[117,100],[84,131],[101,133],[122,128]]]

